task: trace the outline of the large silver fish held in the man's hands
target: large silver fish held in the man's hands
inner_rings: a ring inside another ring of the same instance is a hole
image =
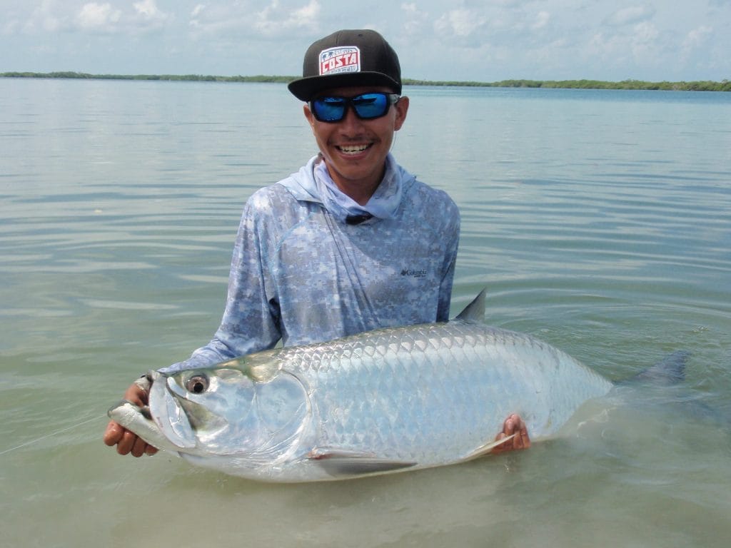
[[[471,460],[491,450],[511,413],[531,439],[547,438],[613,387],[484,316],[483,292],[447,323],[153,372],[149,408],[122,402],[109,416],[196,465],[307,482]]]

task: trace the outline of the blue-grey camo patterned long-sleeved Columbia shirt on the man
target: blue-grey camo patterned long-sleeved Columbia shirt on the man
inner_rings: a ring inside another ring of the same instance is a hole
[[[452,199],[389,155],[376,207],[364,206],[374,216],[348,224],[352,208],[327,197],[320,161],[246,202],[219,330],[164,371],[213,365],[279,340],[294,346],[448,319],[460,225]]]

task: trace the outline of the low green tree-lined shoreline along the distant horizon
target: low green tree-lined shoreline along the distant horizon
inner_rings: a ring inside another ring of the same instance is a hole
[[[204,76],[204,75],[90,75],[85,72],[0,72],[4,78],[61,78],[77,80],[168,80],[174,82],[289,83],[295,76]],[[663,91],[731,91],[731,82],[645,82],[643,80],[500,80],[499,82],[430,81],[404,79],[404,85],[441,85],[471,88],[564,88],[634,89]]]

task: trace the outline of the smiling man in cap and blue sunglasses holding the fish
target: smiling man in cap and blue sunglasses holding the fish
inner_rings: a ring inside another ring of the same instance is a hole
[[[166,370],[313,343],[378,327],[447,321],[459,239],[452,199],[390,154],[409,98],[390,45],[369,30],[312,44],[289,84],[319,154],[246,202],[221,326],[208,345]],[[144,387],[124,397],[146,403]],[[496,452],[530,445],[510,416]],[[110,422],[105,444],[135,457],[156,449]]]

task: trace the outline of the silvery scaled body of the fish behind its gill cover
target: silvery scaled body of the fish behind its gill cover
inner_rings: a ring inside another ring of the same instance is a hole
[[[611,386],[545,343],[480,324],[416,326],[407,336],[403,328],[380,330],[310,354],[284,351],[281,368],[317,402],[317,446],[423,465],[447,460],[442,449],[469,454],[513,411],[534,438],[551,435],[578,404]],[[517,405],[506,397],[511,390],[520,395]],[[555,405],[547,408],[546,400]]]

